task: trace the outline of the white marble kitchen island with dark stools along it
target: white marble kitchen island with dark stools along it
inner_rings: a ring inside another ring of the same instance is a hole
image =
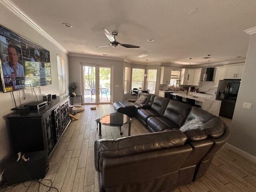
[[[196,104],[200,105],[203,110],[206,110],[216,116],[219,116],[221,101],[216,100],[214,98],[214,95],[209,95],[208,97],[206,95],[206,97],[203,97],[196,94],[195,96],[191,92],[188,95],[186,95],[186,93],[172,93],[172,95],[174,96],[174,98],[176,95],[181,96],[184,102],[186,102],[186,98],[194,99]]]

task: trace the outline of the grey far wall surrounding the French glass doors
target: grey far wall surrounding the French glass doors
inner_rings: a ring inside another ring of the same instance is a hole
[[[82,68],[83,64],[106,65],[113,67],[113,102],[123,100],[123,61],[103,58],[88,58],[83,56],[68,56],[70,82],[78,83],[77,93],[82,94]],[[120,87],[115,87],[119,85]]]

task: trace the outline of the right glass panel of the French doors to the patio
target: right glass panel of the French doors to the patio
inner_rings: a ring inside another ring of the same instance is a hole
[[[99,68],[99,89],[100,103],[110,103],[111,101],[111,68]]]

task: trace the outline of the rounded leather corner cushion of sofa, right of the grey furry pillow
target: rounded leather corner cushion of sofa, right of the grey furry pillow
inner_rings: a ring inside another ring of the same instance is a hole
[[[200,126],[200,129],[203,130],[210,138],[218,138],[223,135],[225,126],[224,122],[220,118],[215,117]]]

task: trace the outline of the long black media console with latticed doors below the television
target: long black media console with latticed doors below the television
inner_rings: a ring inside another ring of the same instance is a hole
[[[26,114],[8,115],[14,152],[46,150],[50,155],[71,122],[68,98],[57,96],[44,108],[30,109]]]

